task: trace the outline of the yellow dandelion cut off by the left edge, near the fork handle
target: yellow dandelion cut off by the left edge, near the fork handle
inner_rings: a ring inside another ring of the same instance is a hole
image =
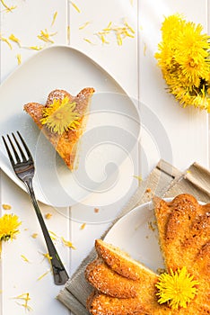
[[[4,214],[0,218],[0,241],[15,238],[19,233],[18,227],[22,224],[17,215]]]

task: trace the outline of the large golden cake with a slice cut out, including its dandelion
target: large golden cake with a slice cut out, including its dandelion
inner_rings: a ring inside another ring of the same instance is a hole
[[[91,314],[210,314],[210,203],[200,205],[183,193],[171,202],[155,197],[153,204],[167,273],[155,274],[118,247],[97,239],[98,257],[85,272],[93,287],[87,301]]]

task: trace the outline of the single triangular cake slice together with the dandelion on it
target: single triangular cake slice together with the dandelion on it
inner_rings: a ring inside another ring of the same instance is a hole
[[[76,96],[57,89],[48,94],[45,104],[24,105],[24,110],[31,115],[71,171],[77,166],[78,145],[86,127],[93,93],[92,87],[83,88]]]

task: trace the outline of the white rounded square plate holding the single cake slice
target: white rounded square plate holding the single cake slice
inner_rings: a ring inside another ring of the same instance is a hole
[[[23,112],[23,105],[45,103],[48,93],[56,88],[77,94],[87,86],[94,87],[95,94],[79,167],[71,173],[31,117]],[[76,49],[52,46],[41,50],[0,86],[0,103],[4,113],[0,134],[21,131],[36,162],[34,188],[40,202],[70,206],[90,193],[106,192],[118,182],[118,167],[124,164],[124,169],[130,170],[130,165],[136,163],[129,158],[127,161],[140,130],[134,102],[106,71]],[[13,174],[3,143],[0,166],[24,189]]]

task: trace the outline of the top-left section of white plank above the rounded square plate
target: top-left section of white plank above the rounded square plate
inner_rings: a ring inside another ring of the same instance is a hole
[[[17,55],[21,55],[22,62],[37,53],[29,49],[31,46],[47,47],[52,43],[39,40],[40,31],[47,29],[49,34],[56,33],[50,39],[56,44],[66,44],[67,40],[67,14],[66,1],[38,0],[38,1],[7,1],[8,5],[15,5],[13,12],[5,12],[1,4],[1,35],[8,39],[11,34],[18,38],[21,47],[9,40],[12,49],[6,42],[1,42],[1,80],[11,74],[18,67]],[[53,16],[57,18],[53,23]]]

